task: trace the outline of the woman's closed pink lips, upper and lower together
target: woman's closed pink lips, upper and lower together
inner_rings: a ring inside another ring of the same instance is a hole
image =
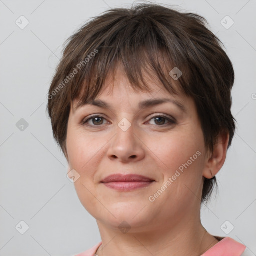
[[[130,191],[150,185],[154,180],[137,174],[112,174],[102,179],[101,182],[110,188],[119,191]]]

